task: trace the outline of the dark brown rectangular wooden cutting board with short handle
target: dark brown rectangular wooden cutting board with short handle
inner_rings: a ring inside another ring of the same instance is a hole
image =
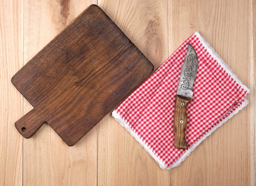
[[[29,138],[47,122],[72,146],[152,72],[150,61],[91,5],[11,79],[34,107],[15,126]]]

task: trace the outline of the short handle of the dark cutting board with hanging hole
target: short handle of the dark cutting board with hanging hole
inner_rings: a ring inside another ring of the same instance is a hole
[[[16,129],[25,138],[30,138],[45,122],[45,114],[34,108],[15,122]]]

